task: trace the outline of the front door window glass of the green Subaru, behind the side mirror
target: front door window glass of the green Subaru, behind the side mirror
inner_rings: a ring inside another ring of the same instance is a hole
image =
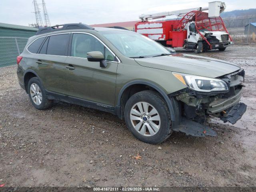
[[[114,61],[114,55],[95,37],[88,34],[73,34],[71,56],[87,58],[87,53],[100,51],[105,60]]]

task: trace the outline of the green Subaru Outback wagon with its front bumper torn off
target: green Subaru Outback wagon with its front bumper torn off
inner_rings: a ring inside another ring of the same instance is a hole
[[[230,62],[176,53],[119,28],[64,24],[38,30],[17,57],[32,105],[54,100],[116,114],[136,138],[163,142],[173,131],[216,136],[215,116],[236,123],[244,70]]]

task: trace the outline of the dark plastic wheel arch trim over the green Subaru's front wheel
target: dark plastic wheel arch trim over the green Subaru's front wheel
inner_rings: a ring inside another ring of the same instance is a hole
[[[124,85],[122,87],[122,89],[120,90],[120,92],[118,94],[118,98],[117,98],[117,105],[115,107],[116,113],[120,119],[123,119],[123,117],[124,117],[124,111],[123,111],[124,106],[122,106],[122,98],[123,98],[124,94],[126,93],[126,90],[128,90],[129,88],[136,86],[136,85],[144,85],[144,86],[148,86],[148,87],[152,88],[153,90],[156,90],[164,98],[164,100],[168,106],[168,109],[170,110],[171,120],[176,121],[175,110],[174,110],[175,104],[174,104],[173,98],[169,98],[168,95],[166,94],[166,92],[162,88],[160,88],[160,86],[158,86],[152,82],[143,81],[143,80],[136,80],[136,81],[129,82],[126,85]],[[126,102],[127,102],[127,100],[126,100]]]

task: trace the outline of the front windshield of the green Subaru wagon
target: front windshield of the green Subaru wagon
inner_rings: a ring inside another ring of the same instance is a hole
[[[131,31],[102,31],[107,38],[124,56],[152,57],[170,52],[157,42]]]

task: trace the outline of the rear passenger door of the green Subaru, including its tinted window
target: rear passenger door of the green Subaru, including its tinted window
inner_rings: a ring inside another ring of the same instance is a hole
[[[65,60],[70,33],[48,36],[37,54],[38,75],[44,88],[50,92],[66,94]]]

